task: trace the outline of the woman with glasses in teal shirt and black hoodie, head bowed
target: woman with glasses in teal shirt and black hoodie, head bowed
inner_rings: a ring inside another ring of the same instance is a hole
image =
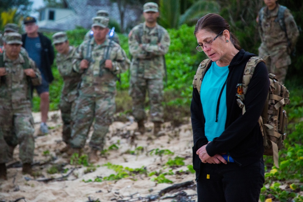
[[[210,58],[208,65],[201,62],[206,73],[200,92],[193,89],[191,101],[198,202],[258,202],[264,183],[258,118],[269,89],[268,72],[264,62],[255,67],[242,114],[236,100],[243,93],[246,63],[255,55],[240,48],[229,27],[220,15],[208,14],[198,20],[194,31],[196,49]]]

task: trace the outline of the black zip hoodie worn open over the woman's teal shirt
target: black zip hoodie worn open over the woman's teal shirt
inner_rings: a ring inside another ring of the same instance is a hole
[[[225,131],[206,146],[208,155],[214,156],[215,154],[229,152],[240,166],[258,161],[264,152],[258,119],[268,94],[269,79],[267,68],[263,62],[260,62],[255,68],[248,85],[244,101],[245,114],[242,115],[242,109],[236,101],[238,98],[236,96],[237,84],[242,83],[245,65],[252,56],[255,55],[242,49],[231,60],[226,81],[227,118]],[[191,126],[194,138],[193,166],[196,171],[199,171],[200,166],[203,165],[196,151],[208,143],[204,134],[204,123],[200,95],[198,90],[194,88],[191,100]]]

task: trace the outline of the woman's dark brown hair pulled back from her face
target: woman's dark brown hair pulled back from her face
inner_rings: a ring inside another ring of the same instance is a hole
[[[205,29],[217,35],[221,31],[227,29],[230,33],[231,43],[235,46],[236,49],[241,50],[239,40],[234,35],[231,34],[229,27],[230,26],[228,25],[228,22],[224,18],[222,18],[221,15],[210,13],[204,15],[202,18],[198,20],[195,27],[194,35],[196,35],[197,32],[201,29]]]

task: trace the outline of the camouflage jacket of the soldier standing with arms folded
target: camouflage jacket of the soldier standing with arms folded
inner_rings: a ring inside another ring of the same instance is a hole
[[[163,78],[165,65],[163,56],[170,45],[170,38],[165,28],[157,24],[149,29],[145,23],[141,23],[130,32],[128,45],[133,57],[130,68],[132,76],[147,79]]]

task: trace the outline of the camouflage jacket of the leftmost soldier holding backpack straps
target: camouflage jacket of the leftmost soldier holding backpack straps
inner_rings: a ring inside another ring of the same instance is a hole
[[[19,58],[12,61],[3,52],[3,62],[6,75],[0,78],[0,103],[12,109],[31,108],[30,88],[41,84],[41,73],[36,68],[35,62],[28,58],[29,66],[35,71],[36,77],[30,78],[25,75],[23,63],[24,56],[19,53]]]

